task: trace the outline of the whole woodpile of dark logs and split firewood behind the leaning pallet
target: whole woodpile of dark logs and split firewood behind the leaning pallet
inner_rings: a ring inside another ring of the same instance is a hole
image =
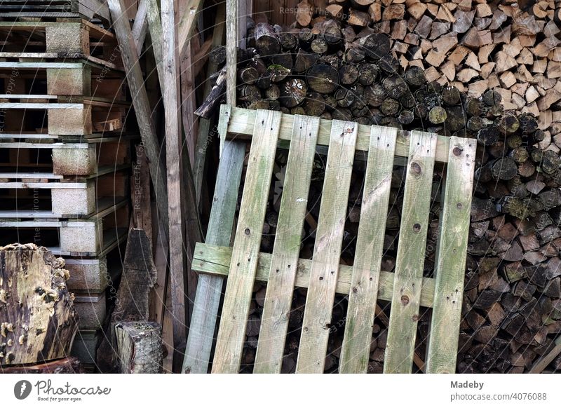
[[[250,28],[250,48],[238,55],[238,104],[476,137],[476,184],[457,369],[528,372],[555,350],[554,340],[561,332],[559,4],[330,3],[327,13],[342,19],[301,13],[288,29],[262,21]],[[221,55],[222,50],[213,54]],[[272,250],[285,159],[279,151],[275,193],[264,225],[264,252]],[[318,156],[302,231],[304,258],[313,252],[324,163],[325,157]],[[356,256],[363,171],[363,162],[356,161],[342,264],[352,265]],[[435,261],[444,171],[438,166],[435,170],[425,264],[428,277]],[[403,168],[396,167],[382,266],[387,271],[395,266],[403,179]],[[255,287],[243,357],[248,371],[255,358],[264,292],[264,287]],[[285,372],[294,371],[305,297],[304,289],[295,291]],[[379,304],[370,372],[381,372],[384,361],[389,306]],[[346,299],[339,297],[326,372],[337,370],[345,314]],[[421,313],[419,370],[430,320],[430,312]],[[560,368],[561,358],[552,359],[548,366]]]

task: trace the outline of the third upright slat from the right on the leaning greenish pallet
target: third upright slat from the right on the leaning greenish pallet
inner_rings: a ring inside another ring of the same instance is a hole
[[[396,128],[372,126],[340,373],[366,373],[390,198]]]

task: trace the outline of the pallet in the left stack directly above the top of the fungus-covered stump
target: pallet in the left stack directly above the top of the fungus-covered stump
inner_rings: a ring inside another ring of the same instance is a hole
[[[128,201],[97,212],[86,219],[0,219],[8,242],[34,242],[53,254],[72,257],[103,257],[126,239]]]

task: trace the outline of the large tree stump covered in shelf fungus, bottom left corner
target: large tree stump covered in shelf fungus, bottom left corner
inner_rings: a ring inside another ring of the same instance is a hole
[[[0,366],[69,354],[78,325],[64,266],[45,247],[0,247]]]

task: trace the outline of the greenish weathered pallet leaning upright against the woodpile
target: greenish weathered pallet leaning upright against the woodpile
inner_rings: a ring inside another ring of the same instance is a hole
[[[323,372],[337,292],[349,296],[339,372],[366,372],[377,299],[391,301],[384,372],[412,372],[420,306],[433,309],[426,372],[455,372],[476,141],[227,106],[219,130],[224,136],[251,137],[252,143],[234,247],[199,244],[194,254],[194,269],[228,276],[212,372],[240,368],[255,280],[266,281],[267,290],[254,372],[280,372],[295,286],[308,289],[297,372]],[[282,140],[290,146],[277,234],[273,253],[262,254],[273,160]],[[316,245],[313,259],[299,259],[313,156],[322,145],[328,152]],[[356,259],[353,266],[340,266],[356,151],[367,151]],[[391,273],[380,269],[395,156],[407,158],[407,178]],[[447,163],[447,175],[434,278],[424,278],[435,162]],[[198,300],[195,310],[205,307],[204,299]]]

